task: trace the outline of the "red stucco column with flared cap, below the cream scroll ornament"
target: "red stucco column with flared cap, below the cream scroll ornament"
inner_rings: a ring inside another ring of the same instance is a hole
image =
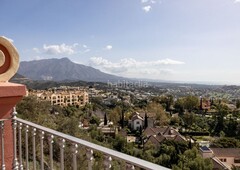
[[[8,119],[12,116],[13,107],[26,94],[24,85],[0,82],[0,119]],[[0,146],[1,146],[0,140]],[[0,147],[0,153],[2,153]],[[7,120],[4,123],[4,161],[6,169],[12,169],[13,166],[13,131],[12,121]],[[0,154],[0,162],[2,157]]]

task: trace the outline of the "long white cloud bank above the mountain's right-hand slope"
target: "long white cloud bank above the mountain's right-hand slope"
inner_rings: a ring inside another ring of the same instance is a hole
[[[124,58],[119,62],[111,62],[102,57],[90,58],[90,65],[97,67],[105,72],[118,74],[128,77],[145,77],[151,78],[172,74],[174,71],[167,68],[170,65],[181,65],[184,62],[172,59],[163,59],[157,61],[136,61],[133,58]]]

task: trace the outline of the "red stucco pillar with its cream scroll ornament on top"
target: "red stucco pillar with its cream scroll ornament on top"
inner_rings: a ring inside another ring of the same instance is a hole
[[[11,42],[0,37],[0,119],[9,119],[12,116],[13,107],[26,94],[24,85],[9,83],[19,67],[19,55]],[[1,140],[0,140],[1,146]],[[4,162],[6,169],[13,166],[13,131],[12,121],[4,121]],[[0,162],[2,164],[2,150],[0,147]]]

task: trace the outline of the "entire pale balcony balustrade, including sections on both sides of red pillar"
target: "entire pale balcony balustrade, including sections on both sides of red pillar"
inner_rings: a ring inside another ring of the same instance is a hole
[[[1,169],[5,170],[4,123],[12,121],[13,169],[153,169],[167,168],[16,117],[0,120]]]

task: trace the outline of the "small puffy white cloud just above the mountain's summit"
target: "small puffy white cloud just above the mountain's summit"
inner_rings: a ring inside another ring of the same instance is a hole
[[[76,46],[76,43],[73,45],[66,45],[66,44],[60,44],[60,45],[43,45],[43,50],[45,53],[50,55],[57,55],[57,54],[66,54],[71,55],[74,54],[74,47]]]

